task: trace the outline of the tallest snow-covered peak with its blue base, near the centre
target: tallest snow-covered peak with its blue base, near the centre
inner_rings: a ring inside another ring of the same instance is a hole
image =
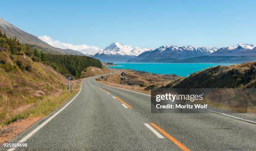
[[[126,62],[129,59],[136,58],[136,56],[147,50],[147,48],[133,48],[131,46],[121,45],[118,42],[115,42],[95,54],[93,57],[107,62]]]

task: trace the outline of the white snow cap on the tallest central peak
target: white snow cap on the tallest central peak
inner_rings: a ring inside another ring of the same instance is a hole
[[[144,51],[149,50],[148,48],[132,47],[129,45],[121,45],[118,42],[114,42],[107,46],[104,50],[100,51],[99,54],[110,54],[110,55],[122,55],[122,56],[138,56]]]

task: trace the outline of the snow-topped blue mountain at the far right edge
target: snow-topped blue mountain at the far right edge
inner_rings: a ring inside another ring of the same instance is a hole
[[[237,44],[233,47],[223,47],[212,53],[214,56],[256,56],[256,45]]]

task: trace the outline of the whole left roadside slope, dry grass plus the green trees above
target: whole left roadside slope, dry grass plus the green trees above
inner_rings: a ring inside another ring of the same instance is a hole
[[[67,93],[62,74],[79,77],[91,65],[102,67],[87,56],[39,52],[0,32],[0,125],[48,115],[79,89],[73,83],[74,91]]]

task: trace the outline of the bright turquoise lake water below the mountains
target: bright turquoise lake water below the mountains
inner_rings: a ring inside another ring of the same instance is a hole
[[[155,74],[176,74],[178,76],[187,77],[189,74],[200,71],[202,69],[232,64],[156,64],[156,63],[116,63],[117,66],[108,66],[115,69],[133,69]]]

